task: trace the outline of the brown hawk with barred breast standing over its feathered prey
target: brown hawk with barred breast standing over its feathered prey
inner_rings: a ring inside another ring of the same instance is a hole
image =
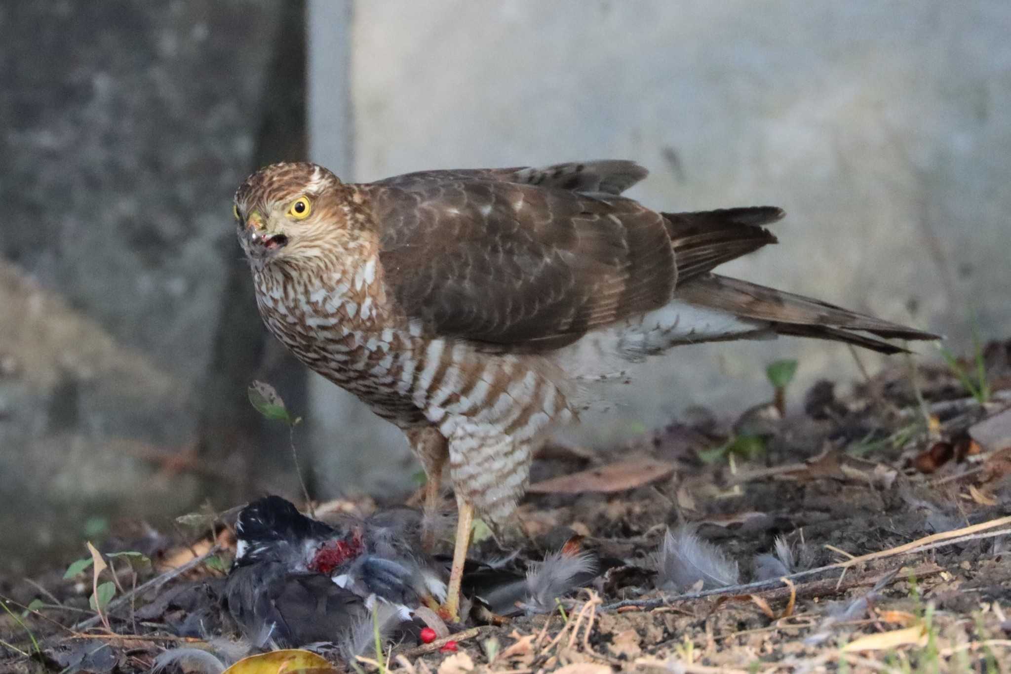
[[[430,512],[448,464],[459,514],[451,616],[475,510],[503,523],[538,443],[628,363],[776,334],[883,353],[901,351],[883,340],[936,339],[714,274],[774,243],[764,225],[784,211],[652,210],[622,196],[646,173],[595,161],[348,184],[284,163],[236,193],[269,330],[404,431],[428,475]]]

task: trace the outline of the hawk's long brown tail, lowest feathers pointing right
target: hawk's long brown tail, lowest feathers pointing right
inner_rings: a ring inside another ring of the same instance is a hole
[[[886,340],[938,340],[938,335],[876,318],[803,295],[774,290],[715,274],[696,279],[674,291],[676,299],[726,311],[741,318],[767,321],[779,334],[845,342],[886,354],[904,351],[853,330]]]

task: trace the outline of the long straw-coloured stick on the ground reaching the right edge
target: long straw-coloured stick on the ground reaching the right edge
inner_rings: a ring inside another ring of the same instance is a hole
[[[997,519],[991,519],[990,521],[980,522],[979,524],[973,524],[972,526],[956,528],[951,532],[942,532],[940,534],[933,534],[931,536],[927,536],[922,539],[917,539],[916,541],[913,541],[911,543],[899,546],[898,548],[892,548],[890,550],[883,550],[877,553],[861,555],[859,557],[854,557],[844,562],[836,562],[835,564],[829,564],[828,566],[818,567],[817,569],[808,569],[807,571],[800,571],[798,573],[790,574],[789,576],[786,577],[790,578],[791,580],[797,580],[798,578],[806,578],[808,576],[824,573],[825,571],[831,571],[832,569],[845,570],[854,565],[862,564],[864,562],[870,562],[877,559],[885,559],[888,557],[895,557],[897,555],[907,555],[907,554],[925,552],[927,550],[933,550],[934,548],[955,545],[957,543],[961,543],[964,541],[974,541],[976,539],[986,539],[986,538],[993,538],[996,536],[1003,536],[1004,534],[1011,533],[1011,529],[1001,529],[999,532],[990,532],[988,534],[979,534],[979,533],[991,528],[996,528],[998,526],[1004,526],[1005,524],[1011,524],[1011,515],[1008,515],[1006,517],[998,517]],[[676,597],[671,597],[670,599],[624,599],[622,601],[615,601],[613,603],[607,604],[606,606],[604,606],[604,610],[616,610],[618,608],[624,608],[625,606],[638,606],[639,608],[657,608],[659,606],[664,606],[671,601],[687,601],[691,599],[702,599],[703,597],[709,597],[719,594],[743,594],[748,590],[772,588],[775,587],[776,584],[782,581],[778,578],[771,580],[759,580],[753,583],[745,583],[743,585],[731,585],[728,587],[718,587],[712,590],[704,590],[702,592],[681,594]]]

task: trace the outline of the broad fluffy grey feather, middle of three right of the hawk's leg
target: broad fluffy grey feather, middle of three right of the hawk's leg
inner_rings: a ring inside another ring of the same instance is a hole
[[[723,551],[699,538],[695,528],[667,529],[657,562],[657,587],[683,592],[699,581],[704,588],[736,585],[740,573]]]

